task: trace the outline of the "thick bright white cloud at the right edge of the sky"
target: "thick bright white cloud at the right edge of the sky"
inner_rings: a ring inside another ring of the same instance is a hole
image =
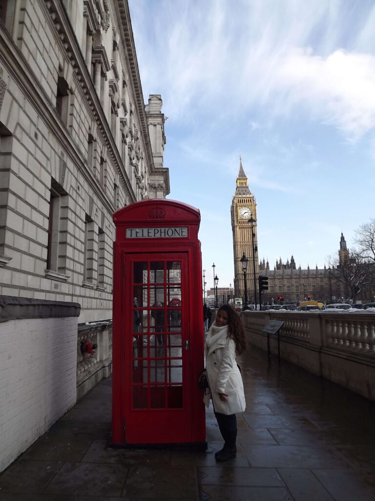
[[[285,108],[305,106],[312,116],[353,141],[375,127],[375,57],[336,50],[326,58],[291,49],[276,70],[274,90]]]

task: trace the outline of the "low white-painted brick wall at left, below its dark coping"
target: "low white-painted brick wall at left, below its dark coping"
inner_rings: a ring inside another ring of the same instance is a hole
[[[0,471],[76,401],[77,317],[0,323]]]

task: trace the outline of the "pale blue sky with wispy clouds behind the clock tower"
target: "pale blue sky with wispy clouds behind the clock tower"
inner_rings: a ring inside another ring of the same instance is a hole
[[[323,268],[375,216],[372,0],[129,0],[144,102],[161,94],[169,199],[200,210],[207,288],[233,286],[239,155],[258,257]]]

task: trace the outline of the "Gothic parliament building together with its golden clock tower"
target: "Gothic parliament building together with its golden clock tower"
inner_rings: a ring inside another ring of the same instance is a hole
[[[243,253],[247,257],[246,285],[248,301],[254,301],[255,277],[268,277],[268,291],[263,292],[261,302],[271,304],[282,296],[284,302],[303,301],[308,296],[313,300],[338,302],[340,298],[349,298],[350,290],[346,284],[335,279],[330,268],[309,268],[302,270],[295,266],[294,257],[283,262],[281,258],[271,267],[264,259],[259,261],[257,244],[257,216],[254,194],[250,192],[247,177],[240,160],[236,188],[230,208],[233,234],[234,260],[234,297],[244,297],[244,281],[241,266]],[[249,224],[250,223],[250,224]],[[252,233],[252,234],[251,234]],[[339,263],[348,258],[349,252],[345,238],[341,233],[338,251]],[[254,250],[254,253],[253,253]]]

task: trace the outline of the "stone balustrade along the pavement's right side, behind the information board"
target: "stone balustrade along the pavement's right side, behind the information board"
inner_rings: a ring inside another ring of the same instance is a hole
[[[255,312],[241,313],[248,341],[267,350],[262,332],[269,320],[280,329],[280,356],[316,375],[375,400],[375,314]],[[271,353],[277,336],[270,335]]]

